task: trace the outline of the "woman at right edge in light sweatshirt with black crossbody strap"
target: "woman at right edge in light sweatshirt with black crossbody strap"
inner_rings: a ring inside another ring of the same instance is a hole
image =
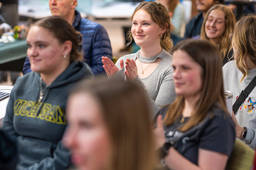
[[[242,91],[256,76],[256,15],[249,14],[239,20],[230,33],[234,61],[228,62],[223,70],[224,89],[233,94],[233,104]],[[236,124],[236,137],[247,143],[251,148],[256,145],[256,88],[240,105],[236,116],[232,118]]]

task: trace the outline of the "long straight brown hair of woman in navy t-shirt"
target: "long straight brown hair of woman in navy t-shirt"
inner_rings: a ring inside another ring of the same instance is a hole
[[[218,107],[228,114],[224,99],[222,63],[218,48],[207,40],[188,39],[178,43],[173,51],[176,50],[186,52],[203,68],[201,96],[196,102],[197,105],[192,111],[192,116],[179,130],[184,132],[198,125],[206,118],[207,112],[211,111],[212,106]],[[164,119],[166,126],[180,118],[184,106],[183,96],[178,95],[166,113]]]

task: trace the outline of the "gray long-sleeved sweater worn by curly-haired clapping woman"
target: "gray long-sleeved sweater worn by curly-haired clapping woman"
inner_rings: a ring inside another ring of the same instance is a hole
[[[125,62],[126,59],[135,59],[140,55],[140,51],[134,54],[125,55],[120,57],[116,66],[120,68],[120,59],[123,59]],[[140,56],[142,57],[142,56]],[[136,77],[133,82],[143,88],[148,96],[149,106],[151,109],[151,117],[153,118],[156,115],[157,111],[160,109],[160,106],[168,105],[176,99],[174,83],[172,81],[172,55],[169,54],[164,49],[157,57],[162,60],[157,65],[157,68],[146,78]],[[119,70],[116,74],[113,75],[114,78],[125,79],[125,68]]]

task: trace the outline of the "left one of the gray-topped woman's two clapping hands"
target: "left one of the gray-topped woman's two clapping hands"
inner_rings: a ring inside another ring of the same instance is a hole
[[[122,59],[120,59],[120,69],[116,67],[116,65],[113,63],[111,59],[108,57],[102,56],[102,63],[103,63],[103,68],[108,75],[108,78],[112,77],[114,74],[116,74],[120,69],[124,67],[124,62]]]

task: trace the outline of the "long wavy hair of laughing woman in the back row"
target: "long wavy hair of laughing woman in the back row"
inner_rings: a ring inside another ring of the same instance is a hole
[[[202,39],[209,40],[209,38],[207,37],[206,32],[205,32],[205,23],[208,19],[209,13],[215,9],[219,9],[219,10],[223,11],[225,14],[225,16],[224,16],[225,17],[225,31],[221,36],[221,41],[217,45],[217,47],[219,48],[219,51],[221,53],[221,59],[223,60],[227,55],[227,51],[231,47],[231,42],[229,40],[228,34],[233,32],[233,28],[236,24],[236,18],[235,18],[233,11],[228,6],[222,5],[222,4],[212,6],[211,8],[209,8],[209,10],[207,11],[206,17],[204,18],[204,22],[203,22],[203,25],[201,28],[201,38]]]

